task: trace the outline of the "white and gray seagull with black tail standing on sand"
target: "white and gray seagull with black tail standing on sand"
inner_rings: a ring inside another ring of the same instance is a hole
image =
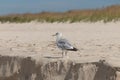
[[[53,36],[56,36],[56,45],[62,50],[62,57],[64,56],[64,53],[67,55],[67,51],[78,51],[78,49],[73,47],[67,39],[62,38],[62,33],[57,32]]]

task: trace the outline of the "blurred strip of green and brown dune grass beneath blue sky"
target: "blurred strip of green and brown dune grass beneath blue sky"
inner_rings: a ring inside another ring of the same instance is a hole
[[[11,14],[0,16],[0,22],[97,22],[97,21],[119,21],[120,5],[113,5],[94,10],[71,10],[63,13],[42,12],[37,14]]]

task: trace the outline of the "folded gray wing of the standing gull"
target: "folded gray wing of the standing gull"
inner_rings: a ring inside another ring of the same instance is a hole
[[[57,46],[62,50],[70,50],[73,49],[73,46],[66,39],[60,39],[57,41]]]

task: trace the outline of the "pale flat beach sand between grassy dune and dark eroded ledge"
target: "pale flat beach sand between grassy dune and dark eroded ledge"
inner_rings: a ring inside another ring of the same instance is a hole
[[[77,52],[61,58],[55,45],[56,32],[62,32]],[[105,59],[120,67],[120,22],[96,23],[0,23],[0,55],[44,59],[72,59],[95,62]]]

